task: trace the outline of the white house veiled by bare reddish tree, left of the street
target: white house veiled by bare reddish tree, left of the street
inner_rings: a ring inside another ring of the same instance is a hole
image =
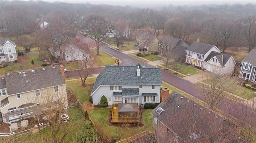
[[[90,58],[90,50],[86,41],[79,37],[72,37],[68,42],[62,46],[62,52],[66,61],[84,60]],[[52,50],[52,49],[51,49]],[[53,55],[58,58],[60,57],[60,50],[56,48],[55,52],[52,51]]]

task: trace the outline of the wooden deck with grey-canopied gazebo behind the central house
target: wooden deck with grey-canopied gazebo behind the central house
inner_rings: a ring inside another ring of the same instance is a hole
[[[136,103],[114,103],[111,123],[139,123],[140,114]]]

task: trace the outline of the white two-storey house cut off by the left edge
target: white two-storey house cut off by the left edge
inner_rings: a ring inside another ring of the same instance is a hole
[[[7,38],[0,38],[0,63],[17,60],[16,45]]]

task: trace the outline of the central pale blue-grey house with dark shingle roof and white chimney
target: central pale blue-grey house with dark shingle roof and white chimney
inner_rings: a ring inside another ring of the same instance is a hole
[[[114,103],[159,103],[162,85],[159,68],[106,66],[92,88],[92,101],[97,105],[104,95],[108,105]]]

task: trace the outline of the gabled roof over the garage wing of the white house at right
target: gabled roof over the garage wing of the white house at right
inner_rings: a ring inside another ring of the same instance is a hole
[[[212,59],[215,56],[216,56],[216,59],[218,59],[221,67],[223,67],[228,62],[230,57],[232,57],[231,55],[228,55],[228,54],[211,51],[211,53],[208,55],[208,57],[204,61],[208,62],[210,59]]]

